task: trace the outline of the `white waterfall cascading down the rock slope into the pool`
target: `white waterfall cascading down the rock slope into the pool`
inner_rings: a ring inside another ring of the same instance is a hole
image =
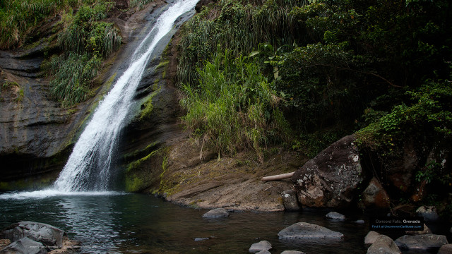
[[[172,30],[177,18],[194,8],[197,2],[178,0],[157,19],[153,29],[133,53],[129,68],[100,102],[78,139],[66,166],[53,184],[57,191],[107,190],[112,153],[119,131],[150,55],[160,39]]]

